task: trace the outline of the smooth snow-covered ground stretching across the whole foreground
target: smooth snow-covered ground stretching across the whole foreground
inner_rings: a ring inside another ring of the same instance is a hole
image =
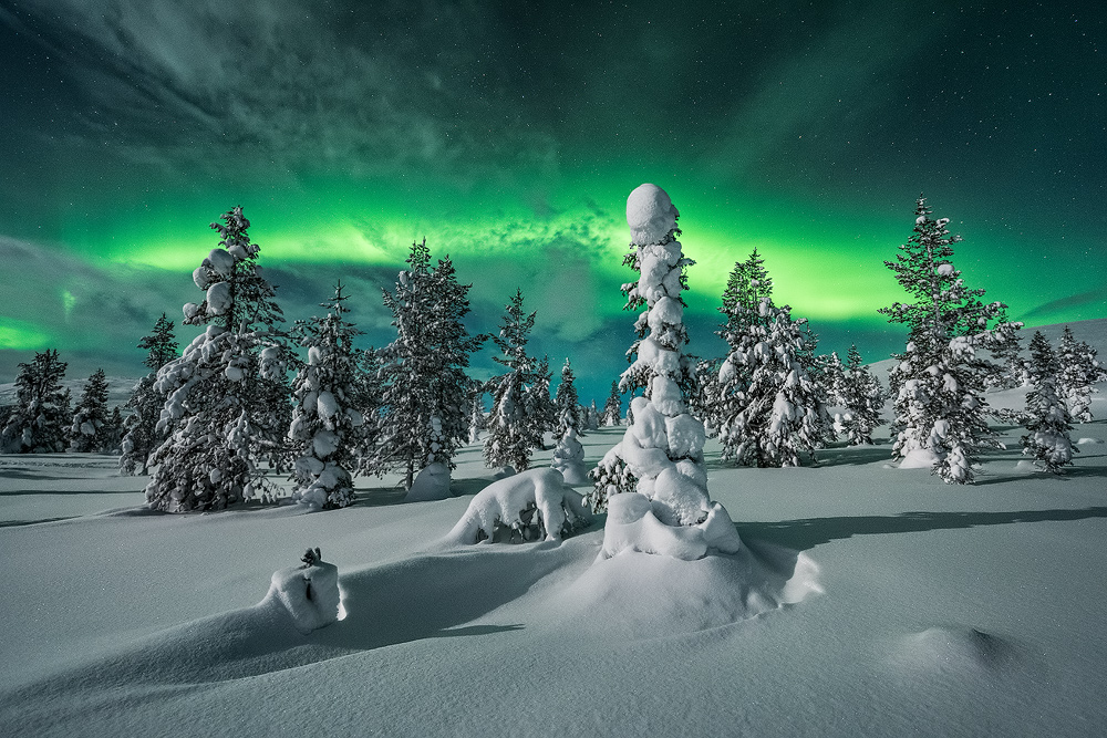
[[[1021,468],[1017,432],[972,487],[890,468],[887,441],[784,470],[710,447],[746,552],[601,565],[602,520],[438,543],[490,479],[476,446],[454,499],[361,479],[314,514],[153,514],[111,457],[0,457],[0,734],[1098,736],[1107,422],[1064,478]],[[309,545],[348,614],[301,635],[257,603]]]

